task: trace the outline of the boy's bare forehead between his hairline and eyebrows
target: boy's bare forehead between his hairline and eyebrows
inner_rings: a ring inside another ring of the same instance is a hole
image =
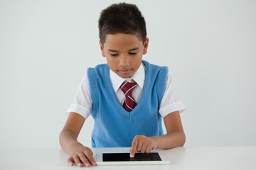
[[[104,46],[112,50],[125,50],[133,47],[141,47],[143,45],[142,40],[139,40],[137,35],[132,34],[107,34]]]

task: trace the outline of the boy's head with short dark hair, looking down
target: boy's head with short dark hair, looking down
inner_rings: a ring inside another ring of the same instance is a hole
[[[149,44],[146,23],[137,6],[121,3],[105,8],[99,30],[100,49],[110,69],[124,79],[133,77]]]

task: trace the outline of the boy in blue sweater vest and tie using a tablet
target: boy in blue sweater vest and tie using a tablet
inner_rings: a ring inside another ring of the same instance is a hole
[[[77,141],[85,119],[95,127],[92,147],[131,147],[130,157],[152,149],[181,147],[185,134],[166,67],[142,60],[149,45],[146,23],[133,4],[113,4],[99,19],[100,49],[107,64],[87,69],[65,126],[60,145],[70,154],[68,162],[96,165],[90,148]],[[161,128],[164,119],[166,134]]]

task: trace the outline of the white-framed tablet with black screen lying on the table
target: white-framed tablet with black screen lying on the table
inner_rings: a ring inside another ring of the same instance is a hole
[[[95,161],[97,165],[169,164],[164,152],[137,153],[133,158],[129,153],[96,153]]]

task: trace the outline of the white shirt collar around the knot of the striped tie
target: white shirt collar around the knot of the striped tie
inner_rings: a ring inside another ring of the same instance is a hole
[[[139,69],[137,69],[137,71],[134,73],[134,76],[131,78],[137,82],[137,84],[141,89],[143,89],[144,80],[145,80],[145,69],[143,64],[140,64]],[[122,77],[119,77],[110,69],[110,80],[111,80],[114,91],[117,92],[125,79]]]

